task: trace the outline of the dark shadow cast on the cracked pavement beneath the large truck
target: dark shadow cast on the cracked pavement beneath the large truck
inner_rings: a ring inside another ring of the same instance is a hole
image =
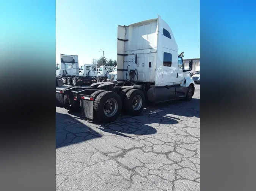
[[[88,120],[80,112],[56,113],[56,148],[102,137],[102,132],[130,139],[134,139],[135,135],[155,134],[157,130],[154,125],[173,125],[185,120],[184,117],[200,117],[200,99],[146,104],[140,115],[121,114],[115,122],[107,124]],[[61,123],[61,120],[66,121]]]

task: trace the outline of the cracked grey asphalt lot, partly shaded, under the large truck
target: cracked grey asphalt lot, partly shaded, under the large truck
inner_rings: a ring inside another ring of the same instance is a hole
[[[56,190],[200,190],[200,85],[190,102],[95,124],[56,107]]]

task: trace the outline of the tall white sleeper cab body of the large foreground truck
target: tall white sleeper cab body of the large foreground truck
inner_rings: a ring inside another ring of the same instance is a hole
[[[160,16],[129,26],[119,25],[118,39],[118,81],[126,80],[126,76],[129,80],[129,71],[133,69],[137,70],[138,82],[151,82],[155,86],[184,83],[184,64],[182,57],[178,57],[175,37]]]

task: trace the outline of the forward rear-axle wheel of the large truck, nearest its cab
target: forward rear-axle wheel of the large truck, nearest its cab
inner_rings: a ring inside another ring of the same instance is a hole
[[[145,106],[145,96],[140,89],[131,89],[124,96],[124,109],[127,114],[136,116]]]

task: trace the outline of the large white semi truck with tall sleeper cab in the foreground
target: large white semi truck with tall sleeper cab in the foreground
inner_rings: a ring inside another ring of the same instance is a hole
[[[57,106],[75,109],[89,119],[113,122],[121,111],[135,116],[146,100],[190,101],[194,81],[184,69],[171,28],[160,16],[129,26],[118,26],[117,84],[93,83],[90,87],[56,87]]]

